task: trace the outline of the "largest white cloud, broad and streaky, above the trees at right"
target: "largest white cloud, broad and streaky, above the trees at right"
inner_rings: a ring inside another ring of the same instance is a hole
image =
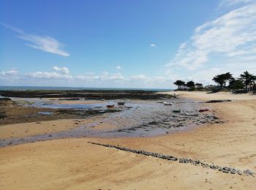
[[[166,66],[198,69],[214,57],[252,56],[256,53],[255,42],[256,3],[252,3],[195,28],[189,41],[180,45]]]

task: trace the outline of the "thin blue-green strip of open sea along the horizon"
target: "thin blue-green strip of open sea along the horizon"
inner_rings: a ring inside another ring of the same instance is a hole
[[[0,91],[35,91],[35,90],[94,90],[94,91],[173,91],[169,88],[86,88],[86,87],[60,87],[60,86],[0,86]]]

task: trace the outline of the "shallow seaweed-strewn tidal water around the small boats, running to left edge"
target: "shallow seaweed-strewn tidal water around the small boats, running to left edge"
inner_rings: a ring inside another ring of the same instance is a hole
[[[31,100],[31,99],[30,99]],[[69,137],[147,137],[177,132],[189,129],[201,123],[219,122],[213,113],[199,113],[202,104],[189,99],[172,99],[173,105],[164,105],[157,101],[129,101],[125,106],[116,106],[121,110],[117,113],[108,113],[105,117],[94,123],[80,125],[76,129],[52,134],[39,134],[33,137],[10,138],[0,140],[0,146],[35,142],[40,140],[53,140]],[[107,109],[106,104],[116,102],[102,102],[102,104],[44,104],[34,100],[30,106],[72,109]],[[129,108],[127,108],[129,107]],[[181,113],[173,113],[181,110]],[[100,123],[115,126],[114,129],[95,129]]]

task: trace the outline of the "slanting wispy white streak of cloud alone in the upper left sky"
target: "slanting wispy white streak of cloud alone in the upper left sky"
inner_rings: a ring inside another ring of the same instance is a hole
[[[34,49],[42,50],[48,53],[57,54],[59,56],[69,56],[69,53],[62,49],[64,45],[53,37],[26,34],[22,30],[13,26],[4,23],[1,23],[1,25],[15,31],[18,34],[18,38],[23,39],[26,42],[30,42],[29,44],[26,44],[29,47],[33,47]]]

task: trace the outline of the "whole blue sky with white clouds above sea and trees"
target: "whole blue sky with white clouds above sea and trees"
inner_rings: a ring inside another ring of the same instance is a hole
[[[0,0],[0,86],[174,88],[256,75],[256,0]]]

